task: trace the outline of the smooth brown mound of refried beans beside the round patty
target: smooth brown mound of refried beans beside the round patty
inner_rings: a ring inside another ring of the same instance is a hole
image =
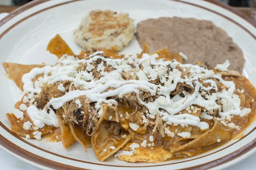
[[[137,25],[137,40],[142,48],[148,43],[150,52],[165,47],[172,53],[183,52],[188,57],[184,63],[207,61],[215,67],[229,59],[229,70],[242,72],[244,67],[239,46],[211,21],[179,17],[144,20]]]

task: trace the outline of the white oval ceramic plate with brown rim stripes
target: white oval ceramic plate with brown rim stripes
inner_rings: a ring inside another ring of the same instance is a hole
[[[207,2],[208,1],[208,2]],[[211,0],[41,0],[23,6],[0,21],[0,63],[54,64],[57,58],[46,51],[49,40],[60,34],[75,53],[81,48],[73,41],[73,30],[89,11],[111,9],[130,14],[135,24],[158,17],[194,17],[211,20],[223,28],[244,52],[243,74],[256,86],[256,24],[228,6]],[[243,19],[245,18],[245,20]],[[254,25],[254,26],[253,26]],[[135,54],[141,49],[134,39],[122,53]],[[158,164],[131,164],[118,159],[100,162],[90,148],[80,144],[65,150],[60,142],[27,140],[10,130],[5,113],[14,108],[21,91],[5,75],[0,65],[0,147],[12,155],[42,169],[221,169],[246,158],[256,150],[256,123],[250,125],[241,139],[207,153]]]

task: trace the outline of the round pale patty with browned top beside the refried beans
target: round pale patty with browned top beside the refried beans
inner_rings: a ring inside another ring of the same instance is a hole
[[[106,10],[91,11],[74,32],[74,39],[82,48],[120,51],[134,37],[133,20],[128,14]]]

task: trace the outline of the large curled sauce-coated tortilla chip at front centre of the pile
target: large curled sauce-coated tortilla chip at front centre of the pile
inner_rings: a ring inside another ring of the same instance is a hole
[[[105,120],[106,109],[105,106],[105,111],[93,131],[91,139],[93,150],[99,161],[104,161],[116,153],[131,139],[131,134],[122,129],[119,123]]]

